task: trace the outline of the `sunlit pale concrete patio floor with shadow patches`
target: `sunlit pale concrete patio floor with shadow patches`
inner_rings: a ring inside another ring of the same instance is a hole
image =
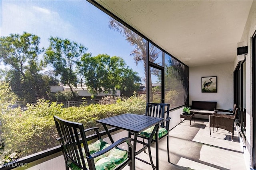
[[[211,128],[212,131],[212,128]],[[210,137],[207,119],[195,119],[195,123],[184,120],[170,131],[170,162],[168,163],[166,143],[163,139],[159,144],[160,170],[248,170],[244,160],[244,149],[238,132],[234,132],[233,141],[228,131],[219,129]],[[148,152],[148,150],[147,150]],[[155,160],[154,145],[152,146],[153,161]],[[144,152],[139,158],[149,161]],[[125,167],[129,169],[129,166]],[[136,160],[136,170],[150,170],[152,167]]]

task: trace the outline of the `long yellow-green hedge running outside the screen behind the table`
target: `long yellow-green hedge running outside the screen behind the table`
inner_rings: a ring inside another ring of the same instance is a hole
[[[27,106],[26,111],[16,108],[2,114],[1,131],[6,139],[4,152],[22,150],[22,156],[26,156],[59,145],[53,115],[83,123],[85,128],[100,127],[103,130],[96,120],[123,113],[144,113],[146,102],[133,96],[116,104],[62,108],[62,104],[41,99],[35,105]]]

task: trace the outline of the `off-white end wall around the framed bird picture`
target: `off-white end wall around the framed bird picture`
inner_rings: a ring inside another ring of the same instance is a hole
[[[217,76],[217,93],[202,93],[201,78]],[[233,63],[189,67],[189,105],[192,100],[217,102],[219,109],[233,109]]]

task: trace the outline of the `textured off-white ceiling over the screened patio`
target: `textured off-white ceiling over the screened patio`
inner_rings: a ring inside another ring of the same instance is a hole
[[[97,0],[187,64],[233,62],[252,1]]]

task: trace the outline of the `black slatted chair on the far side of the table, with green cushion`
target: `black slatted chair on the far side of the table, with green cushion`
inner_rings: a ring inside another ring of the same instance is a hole
[[[150,163],[151,163],[153,169],[154,169],[154,164],[152,161],[150,145],[153,142],[156,142],[156,134],[158,134],[158,141],[164,139],[164,137],[167,137],[167,154],[168,154],[168,162],[170,162],[169,124],[170,124],[171,117],[169,117],[169,109],[170,109],[170,104],[147,103],[145,115],[164,118],[164,120],[159,123],[158,129],[154,128],[154,126],[153,126],[153,127],[150,127],[149,129],[146,129],[145,131],[143,131],[142,133],[140,133],[138,135],[138,137],[141,137],[143,139],[143,142],[138,141],[138,143],[142,143],[144,146],[148,147]],[[148,142],[145,143],[144,139],[148,140]],[[144,152],[146,152],[146,150],[144,150]]]

